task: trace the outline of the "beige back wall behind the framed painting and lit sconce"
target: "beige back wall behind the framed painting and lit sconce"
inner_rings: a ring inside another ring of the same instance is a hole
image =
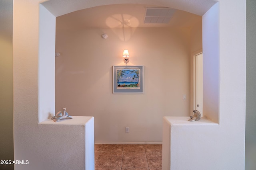
[[[162,142],[162,117],[190,114],[189,42],[186,29],[57,29],[56,111],[94,116],[95,142]],[[144,66],[144,94],[112,93],[123,49]]]

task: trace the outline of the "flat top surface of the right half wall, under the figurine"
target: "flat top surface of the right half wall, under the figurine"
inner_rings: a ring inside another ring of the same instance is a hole
[[[206,119],[204,117],[201,117],[199,121],[188,121],[190,117],[186,116],[165,116],[164,119],[171,125],[182,125],[182,126],[196,126],[196,125],[219,125],[218,123],[215,123],[213,121],[210,121],[209,119]]]

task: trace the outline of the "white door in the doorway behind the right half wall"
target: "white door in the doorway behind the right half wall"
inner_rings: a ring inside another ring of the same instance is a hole
[[[196,59],[196,106],[201,115],[203,115],[203,53],[195,56]]]

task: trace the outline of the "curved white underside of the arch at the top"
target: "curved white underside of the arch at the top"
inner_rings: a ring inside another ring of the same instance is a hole
[[[219,0],[44,0],[42,5],[54,16],[110,4],[151,4],[204,15]]]

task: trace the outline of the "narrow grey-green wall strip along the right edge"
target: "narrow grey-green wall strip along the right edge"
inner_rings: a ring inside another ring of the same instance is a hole
[[[256,1],[246,1],[246,140],[245,169],[256,169]]]

